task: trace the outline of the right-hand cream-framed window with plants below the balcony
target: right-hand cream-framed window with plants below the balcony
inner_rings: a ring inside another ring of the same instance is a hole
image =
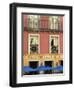
[[[50,51],[51,53],[59,53],[59,35],[50,36]]]

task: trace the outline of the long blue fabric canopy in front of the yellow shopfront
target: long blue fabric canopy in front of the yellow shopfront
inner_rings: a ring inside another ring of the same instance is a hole
[[[29,66],[24,66],[23,71],[25,72],[35,72],[35,71],[46,71],[46,70],[63,70],[63,66],[57,66],[57,67],[49,67],[49,66],[40,66],[35,69],[29,67]]]

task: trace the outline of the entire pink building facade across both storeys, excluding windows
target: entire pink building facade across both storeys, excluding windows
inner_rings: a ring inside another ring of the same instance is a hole
[[[40,35],[40,54],[47,54],[50,53],[50,35],[59,35],[59,46],[60,46],[60,53],[63,53],[63,17],[61,18],[60,30],[57,32],[48,31],[51,25],[51,22],[48,21],[48,16],[40,16],[39,22],[39,29],[44,30],[40,32],[28,32],[28,15],[23,16],[24,22],[24,32],[23,32],[23,52],[24,54],[28,54],[28,35],[29,34],[39,34]],[[50,23],[50,24],[49,24]]]

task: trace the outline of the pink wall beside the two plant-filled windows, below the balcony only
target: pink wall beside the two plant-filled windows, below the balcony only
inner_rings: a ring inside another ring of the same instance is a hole
[[[23,34],[23,50],[24,54],[28,54],[28,33],[27,31],[24,31]],[[32,33],[33,34],[33,33]],[[41,54],[47,54],[49,52],[50,44],[49,44],[49,36],[50,33],[48,32],[40,32],[40,53]],[[54,34],[55,35],[55,34]],[[60,40],[60,53],[63,53],[63,33],[58,34],[59,40]]]

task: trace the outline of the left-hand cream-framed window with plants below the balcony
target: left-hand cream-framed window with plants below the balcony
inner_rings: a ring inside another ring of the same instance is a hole
[[[38,34],[30,34],[29,35],[29,53],[30,54],[38,54],[39,53],[39,35]]]

